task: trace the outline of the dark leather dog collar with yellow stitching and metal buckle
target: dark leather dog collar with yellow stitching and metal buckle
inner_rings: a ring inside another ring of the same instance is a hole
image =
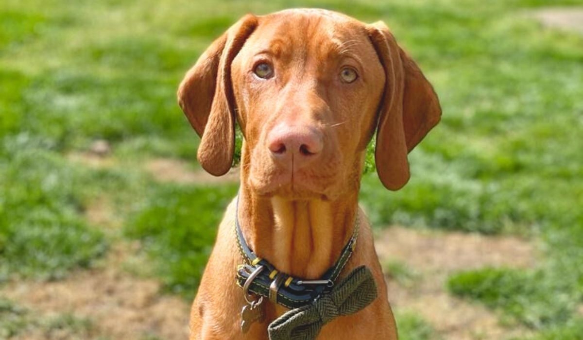
[[[356,246],[359,234],[360,219],[356,214],[354,230],[346,243],[336,263],[330,267],[318,280],[306,280],[280,272],[269,261],[258,257],[249,247],[238,220],[238,197],[235,212],[235,232],[237,246],[244,264],[237,266],[236,282],[247,293],[268,297],[273,303],[278,303],[288,309],[295,309],[314,302],[322,293],[329,292],[334,286],[338,275],[342,272]]]

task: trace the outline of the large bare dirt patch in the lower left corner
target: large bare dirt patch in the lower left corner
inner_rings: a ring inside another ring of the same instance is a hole
[[[58,282],[13,282],[0,293],[35,313],[87,318],[99,338],[186,339],[188,304],[178,297],[160,295],[159,282],[135,278],[120,269],[133,252],[118,243],[103,268],[80,271]],[[34,330],[23,336],[37,339]]]

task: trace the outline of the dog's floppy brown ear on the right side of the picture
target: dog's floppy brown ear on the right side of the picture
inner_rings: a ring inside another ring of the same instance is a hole
[[[409,180],[407,154],[439,122],[441,107],[433,86],[388,27],[377,22],[367,31],[385,70],[374,153],[377,173],[387,189],[399,190]]]

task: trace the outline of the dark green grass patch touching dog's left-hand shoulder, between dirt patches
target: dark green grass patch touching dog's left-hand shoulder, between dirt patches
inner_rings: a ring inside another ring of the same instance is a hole
[[[236,193],[233,185],[170,185],[154,191],[128,223],[128,236],[143,241],[167,290],[194,296],[215,241],[216,226]]]

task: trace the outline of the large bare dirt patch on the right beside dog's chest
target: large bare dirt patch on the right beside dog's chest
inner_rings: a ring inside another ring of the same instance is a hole
[[[375,247],[381,263],[403,262],[420,277],[407,286],[388,279],[392,307],[419,313],[445,339],[504,339],[528,334],[522,327],[503,327],[495,313],[449,295],[444,287],[448,274],[454,271],[484,266],[531,267],[536,255],[527,241],[391,227],[377,236]]]

